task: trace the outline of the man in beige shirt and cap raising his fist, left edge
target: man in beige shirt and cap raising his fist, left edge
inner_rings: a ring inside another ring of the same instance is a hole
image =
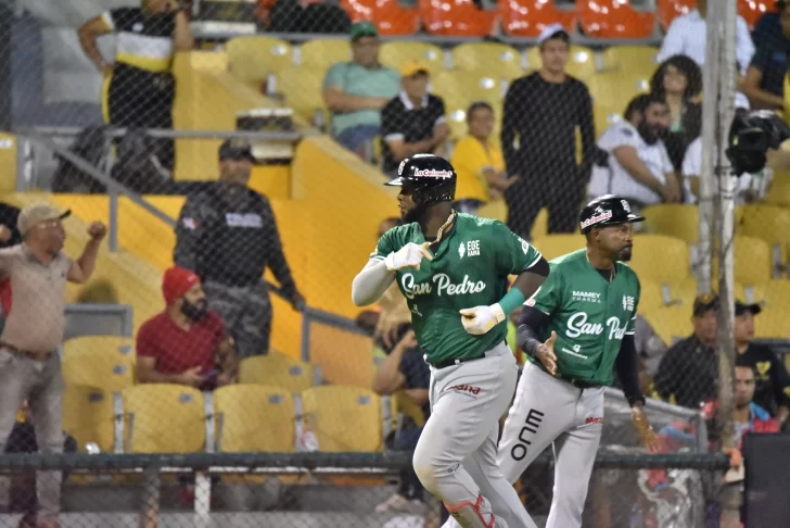
[[[63,253],[66,231],[61,211],[47,203],[24,208],[17,218],[23,243],[0,250],[0,280],[9,279],[13,304],[0,335],[0,452],[5,448],[16,412],[27,400],[39,450],[63,452],[61,406],[63,377],[58,347],[65,330],[66,281],[84,284],[95,267],[106,234],[101,222],[88,227],[90,237],[76,261]],[[56,528],[61,473],[37,477],[40,528]],[[29,523],[28,523],[29,525]]]

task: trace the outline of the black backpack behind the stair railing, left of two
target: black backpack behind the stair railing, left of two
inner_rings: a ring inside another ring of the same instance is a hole
[[[82,129],[68,149],[98,169],[104,172],[110,161],[110,141],[105,136],[107,125],[92,125]],[[60,154],[58,168],[52,176],[53,192],[104,193],[104,185],[85,173]]]

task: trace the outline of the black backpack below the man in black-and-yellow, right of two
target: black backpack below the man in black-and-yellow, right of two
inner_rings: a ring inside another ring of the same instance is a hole
[[[127,130],[118,142],[113,179],[140,194],[163,192],[170,183],[170,174],[157,155],[161,143],[143,129]]]

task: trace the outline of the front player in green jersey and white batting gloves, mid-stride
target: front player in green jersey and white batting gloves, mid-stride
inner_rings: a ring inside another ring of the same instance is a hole
[[[411,311],[431,366],[415,473],[464,528],[533,527],[497,467],[496,443],[518,377],[506,319],[544,282],[548,263],[504,224],[456,213],[456,172],[442,158],[407,159],[388,185],[402,188],[404,225],[381,237],[352,297],[371,304],[396,280]],[[518,277],[508,291],[509,275]]]

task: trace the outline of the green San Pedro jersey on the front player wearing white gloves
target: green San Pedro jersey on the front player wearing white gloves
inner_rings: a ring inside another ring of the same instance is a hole
[[[425,242],[418,223],[386,231],[370,257],[383,260],[409,242]],[[508,275],[537,264],[540,253],[501,222],[468,214],[458,215],[453,230],[431,252],[433,261],[423,259],[420,269],[399,271],[395,278],[428,361],[479,357],[505,341],[507,320],[483,336],[472,336],[463,329],[459,311],[499,302]]]

